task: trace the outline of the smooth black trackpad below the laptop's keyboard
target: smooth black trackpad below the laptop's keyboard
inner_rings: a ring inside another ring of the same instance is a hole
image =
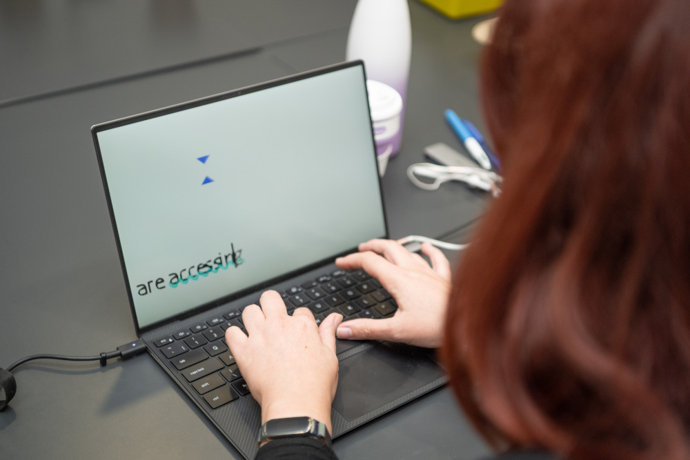
[[[433,356],[433,350],[384,342],[340,361],[333,408],[352,421],[440,379]]]

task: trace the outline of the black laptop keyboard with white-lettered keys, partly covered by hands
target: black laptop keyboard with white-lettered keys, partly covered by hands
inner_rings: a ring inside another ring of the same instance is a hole
[[[364,270],[335,270],[280,294],[288,314],[292,314],[295,308],[306,307],[319,324],[333,312],[342,314],[343,321],[347,321],[389,317],[397,310],[397,303],[391,295]],[[251,397],[235,358],[225,343],[225,331],[230,326],[237,326],[246,332],[242,323],[242,308],[230,310],[222,316],[209,318],[155,341],[181,377],[213,409],[239,397]],[[336,352],[342,353],[359,343],[337,340]]]

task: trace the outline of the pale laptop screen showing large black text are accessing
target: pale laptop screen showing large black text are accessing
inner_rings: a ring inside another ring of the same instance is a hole
[[[361,63],[92,132],[137,328],[386,236]]]

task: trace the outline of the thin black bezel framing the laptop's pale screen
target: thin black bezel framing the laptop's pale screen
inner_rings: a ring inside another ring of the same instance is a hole
[[[219,94],[213,94],[208,97],[203,97],[201,99],[195,99],[193,101],[188,101],[184,103],[179,103],[175,104],[173,106],[168,106],[166,108],[160,108],[157,110],[151,110],[149,112],[144,112],[141,114],[135,114],[130,117],[124,117],[121,119],[116,119],[113,121],[108,121],[105,123],[99,123],[97,125],[94,125],[91,127],[91,135],[94,141],[94,145],[96,148],[96,156],[98,160],[98,165],[99,165],[99,170],[101,172],[101,180],[103,181],[103,189],[106,194],[106,201],[108,203],[108,212],[110,214],[110,223],[112,224],[112,231],[115,235],[115,243],[117,244],[117,252],[120,260],[120,266],[122,268],[122,274],[124,277],[125,281],[125,287],[127,290],[127,296],[128,296],[128,301],[130,303],[130,310],[132,311],[132,318],[134,319],[135,323],[135,329],[137,332],[137,337],[141,337],[141,334],[144,334],[150,330],[154,330],[155,328],[158,328],[159,326],[163,326],[165,324],[171,323],[172,321],[177,321],[179,319],[184,319],[191,317],[195,314],[198,314],[200,312],[204,312],[206,310],[210,310],[211,308],[215,308],[217,306],[220,306],[224,303],[229,303],[235,299],[239,299],[241,297],[246,296],[247,294],[251,294],[252,292],[256,292],[257,290],[262,290],[263,288],[268,288],[269,286],[272,286],[276,283],[279,283],[281,281],[285,281],[286,279],[289,279],[291,277],[298,276],[299,274],[308,272],[309,270],[313,270],[315,268],[318,268],[319,266],[324,266],[328,263],[333,263],[335,258],[343,256],[345,254],[349,254],[351,252],[357,251],[357,248],[350,248],[348,250],[345,250],[344,252],[341,252],[339,254],[335,254],[331,257],[327,257],[326,259],[322,259],[319,261],[315,261],[313,263],[308,264],[307,266],[302,266],[299,268],[295,268],[295,270],[290,270],[290,272],[286,272],[284,274],[280,274],[277,277],[273,277],[271,279],[267,279],[266,281],[263,281],[262,283],[257,283],[253,286],[249,286],[247,288],[244,288],[242,290],[238,290],[237,292],[233,292],[231,294],[228,294],[224,297],[219,297],[218,299],[214,299],[212,301],[208,301],[205,303],[202,303],[199,306],[190,308],[184,312],[174,314],[170,317],[161,319],[160,321],[155,321],[154,323],[147,324],[146,326],[140,326],[139,325],[139,319],[137,317],[137,310],[135,309],[135,302],[134,302],[134,296],[132,294],[132,289],[130,287],[130,281],[127,273],[127,268],[125,265],[125,259],[124,259],[124,252],[121,247],[121,241],[119,237],[119,232],[117,230],[117,221],[115,218],[115,212],[112,206],[112,201],[110,199],[110,190],[108,189],[108,180],[106,179],[106,172],[105,168],[103,166],[103,159],[101,157],[101,149],[99,146],[99,141],[98,141],[98,133],[103,132],[106,130],[110,130],[113,128],[118,128],[120,126],[126,126],[132,123],[138,123],[139,121],[145,121],[148,119],[153,119],[157,117],[163,117],[164,115],[175,113],[175,112],[180,112],[182,110],[188,110],[190,108],[195,108],[199,106],[204,106],[206,104],[210,103],[215,103],[217,101],[224,101],[226,99],[232,99],[234,97],[239,97],[243,96],[245,94],[250,94],[253,92],[257,91],[262,91],[266,90],[268,88],[274,88],[276,86],[282,86],[288,83],[293,83],[295,81],[299,80],[304,80],[304,79],[309,79],[312,77],[318,77],[319,75],[330,73],[330,72],[337,72],[338,70],[343,70],[346,68],[353,68],[359,66],[362,70],[362,82],[364,84],[364,89],[366,91],[366,71],[364,69],[364,62],[363,61],[348,61],[344,63],[337,63],[332,66],[326,66],[323,68],[318,68],[315,70],[310,70],[308,72],[301,72],[298,74],[293,74],[288,77],[282,77],[279,79],[271,80],[271,81],[266,81],[264,83],[258,83],[253,86],[247,86],[244,88],[239,88],[237,90],[232,90],[228,92],[222,92]],[[371,108],[368,105],[368,98],[366,98],[366,107],[368,108],[368,116],[370,119],[370,126],[371,126],[371,150],[372,154],[374,157],[375,165],[377,168],[377,173],[379,172],[379,165],[378,161],[376,158],[376,144],[374,140],[374,132],[373,132],[373,125],[371,123]],[[386,217],[386,207],[385,201],[384,201],[384,191],[381,183],[381,177],[380,174],[377,174],[377,179],[378,179],[378,190],[379,190],[379,196],[381,200],[381,209],[382,209],[382,217],[384,221],[384,234],[383,235],[378,235],[377,237],[380,238],[388,238],[388,219]]]

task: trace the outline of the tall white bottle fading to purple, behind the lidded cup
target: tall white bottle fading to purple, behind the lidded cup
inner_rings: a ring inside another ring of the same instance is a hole
[[[411,54],[410,10],[407,0],[359,0],[348,34],[346,59],[362,59],[366,78],[391,86],[402,97],[400,130],[392,140],[400,150]]]

